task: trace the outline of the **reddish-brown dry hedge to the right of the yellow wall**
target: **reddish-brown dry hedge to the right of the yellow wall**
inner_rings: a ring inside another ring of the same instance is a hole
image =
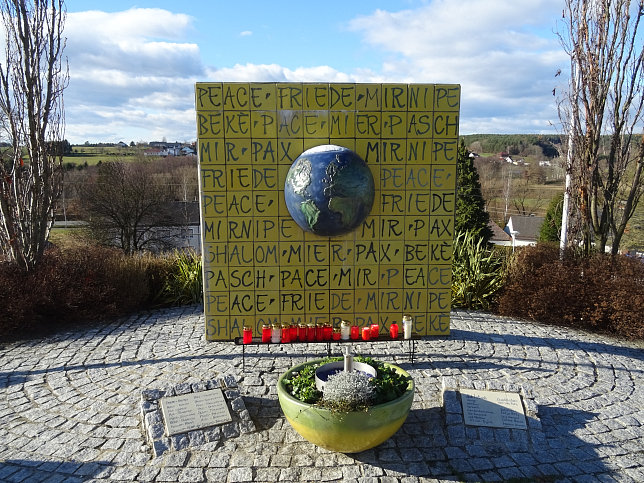
[[[539,244],[520,250],[499,298],[499,313],[644,339],[644,263],[589,258]]]

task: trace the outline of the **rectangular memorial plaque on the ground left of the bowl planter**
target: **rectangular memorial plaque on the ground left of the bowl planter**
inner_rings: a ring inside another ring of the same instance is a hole
[[[161,398],[168,436],[232,421],[221,389]]]

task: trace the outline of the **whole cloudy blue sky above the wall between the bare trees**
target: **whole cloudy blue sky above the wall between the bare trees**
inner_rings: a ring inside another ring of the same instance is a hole
[[[553,33],[561,0],[68,0],[67,10],[72,143],[192,141],[198,81],[458,83],[462,134],[552,133],[552,90],[567,82]]]

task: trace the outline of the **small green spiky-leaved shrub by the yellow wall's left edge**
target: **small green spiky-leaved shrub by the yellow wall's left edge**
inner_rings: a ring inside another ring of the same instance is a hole
[[[199,303],[202,297],[201,256],[194,251],[176,251],[160,300],[170,305],[189,305]]]

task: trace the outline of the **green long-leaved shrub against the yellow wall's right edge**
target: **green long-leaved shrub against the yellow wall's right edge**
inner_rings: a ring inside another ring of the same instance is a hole
[[[454,239],[452,305],[488,310],[503,286],[505,256],[471,231]]]

